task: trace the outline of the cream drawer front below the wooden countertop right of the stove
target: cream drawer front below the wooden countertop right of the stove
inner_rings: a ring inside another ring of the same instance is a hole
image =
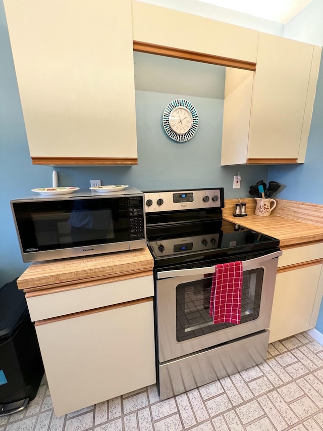
[[[293,265],[300,262],[323,258],[323,243],[308,246],[295,247],[283,250],[283,255],[278,259],[278,267]]]

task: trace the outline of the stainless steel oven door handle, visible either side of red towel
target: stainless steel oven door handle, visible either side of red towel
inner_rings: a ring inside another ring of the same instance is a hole
[[[264,256],[256,257],[255,259],[250,259],[242,262],[243,271],[248,271],[250,269],[259,268],[262,266],[263,262],[267,262],[270,259],[278,258],[282,256],[283,252],[280,250],[278,252],[270,253]],[[175,269],[169,271],[158,271],[157,279],[169,278],[169,277],[181,277],[186,275],[203,275],[203,274],[213,274],[216,269],[213,266],[208,266],[206,268],[192,268],[192,269]]]

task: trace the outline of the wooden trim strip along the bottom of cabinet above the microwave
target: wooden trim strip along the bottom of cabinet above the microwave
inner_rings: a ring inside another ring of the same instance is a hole
[[[69,165],[138,165],[133,157],[31,157],[32,165],[69,166]]]

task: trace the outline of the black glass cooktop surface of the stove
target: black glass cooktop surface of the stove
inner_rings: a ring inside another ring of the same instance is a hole
[[[147,240],[155,266],[270,252],[279,246],[276,238],[226,220],[148,225]]]

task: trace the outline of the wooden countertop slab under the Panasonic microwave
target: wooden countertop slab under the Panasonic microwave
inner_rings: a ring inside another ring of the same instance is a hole
[[[152,274],[153,258],[147,247],[83,258],[32,263],[18,278],[18,289],[38,291],[71,289]]]

